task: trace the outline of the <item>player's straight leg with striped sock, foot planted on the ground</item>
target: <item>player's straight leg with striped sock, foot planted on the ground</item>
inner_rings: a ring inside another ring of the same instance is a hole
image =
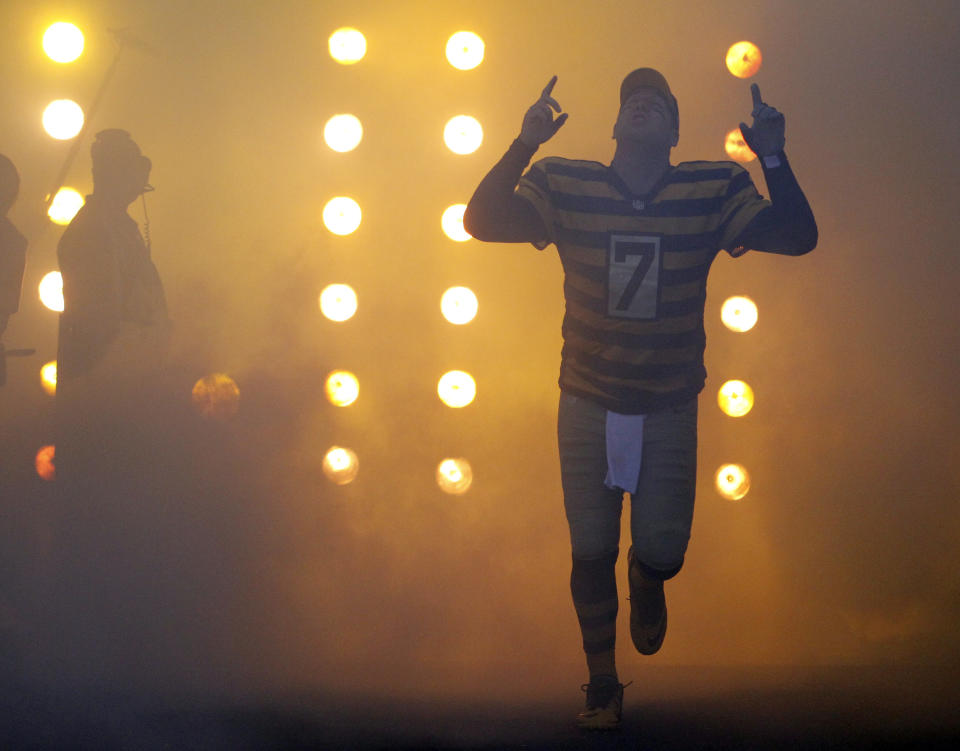
[[[615,727],[623,689],[617,678],[618,609],[615,565],[623,494],[604,484],[607,472],[606,410],[561,393],[557,425],[564,508],[570,526],[573,565],[570,591],[590,672],[583,727]]]

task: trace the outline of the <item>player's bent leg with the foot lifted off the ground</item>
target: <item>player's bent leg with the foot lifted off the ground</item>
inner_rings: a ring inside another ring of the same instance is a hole
[[[683,565],[697,479],[697,402],[646,416],[643,462],[631,497],[628,553],[630,634],[642,654],[660,649],[667,630],[663,582]]]

